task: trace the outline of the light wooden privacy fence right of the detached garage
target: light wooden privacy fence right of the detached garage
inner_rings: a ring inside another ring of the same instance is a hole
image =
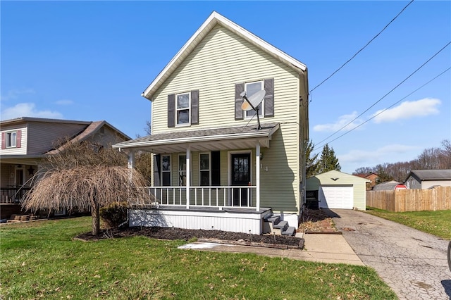
[[[443,211],[451,209],[451,187],[367,191],[366,206],[385,211]]]

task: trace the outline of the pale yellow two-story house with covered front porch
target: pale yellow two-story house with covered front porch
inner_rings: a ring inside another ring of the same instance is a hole
[[[251,99],[261,90],[259,129],[242,92]],[[297,227],[306,65],[214,12],[142,96],[152,101],[152,135],[113,148],[129,154],[130,166],[137,151],[154,154],[149,192],[158,209],[129,211],[131,226],[261,234],[275,214]]]

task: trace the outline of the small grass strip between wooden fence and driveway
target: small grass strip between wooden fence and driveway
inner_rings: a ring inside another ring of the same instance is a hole
[[[430,233],[443,239],[451,239],[451,211],[408,211],[393,213],[367,207],[366,213]]]

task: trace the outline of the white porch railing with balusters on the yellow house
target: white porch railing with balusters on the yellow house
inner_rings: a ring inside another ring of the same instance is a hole
[[[145,187],[159,206],[202,206],[222,208],[256,208],[252,196],[256,186],[190,187],[187,204],[186,187]]]

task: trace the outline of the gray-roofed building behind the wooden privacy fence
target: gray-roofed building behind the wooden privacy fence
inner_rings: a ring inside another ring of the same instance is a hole
[[[451,187],[451,170],[412,170],[404,185],[409,189],[428,189],[434,185]]]

